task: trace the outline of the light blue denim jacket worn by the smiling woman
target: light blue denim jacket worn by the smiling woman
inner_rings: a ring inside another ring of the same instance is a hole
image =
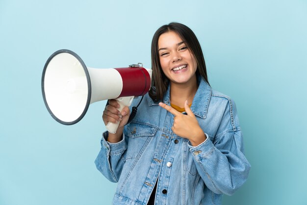
[[[163,99],[168,105],[169,89]],[[196,147],[173,133],[174,115],[148,95],[122,141],[109,143],[103,133],[95,163],[118,182],[112,204],[146,205],[157,183],[156,205],[220,205],[222,194],[233,194],[246,181],[250,164],[233,101],[201,79],[191,110],[208,136]]]

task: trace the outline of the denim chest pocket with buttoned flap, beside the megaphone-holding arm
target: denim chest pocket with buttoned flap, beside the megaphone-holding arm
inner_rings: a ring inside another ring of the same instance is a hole
[[[126,159],[140,156],[148,147],[157,129],[149,124],[130,123],[125,132],[125,136],[128,137]]]

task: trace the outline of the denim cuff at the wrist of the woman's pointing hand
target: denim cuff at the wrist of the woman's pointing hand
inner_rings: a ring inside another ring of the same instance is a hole
[[[202,158],[207,157],[209,154],[211,154],[214,150],[214,145],[209,139],[209,136],[205,133],[206,139],[204,142],[199,144],[198,146],[192,146],[190,142],[188,143],[188,146],[190,148],[190,152],[194,155],[196,160],[200,160]]]

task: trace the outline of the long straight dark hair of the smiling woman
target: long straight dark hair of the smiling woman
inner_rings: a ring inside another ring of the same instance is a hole
[[[199,41],[197,40],[193,31],[183,24],[179,23],[170,23],[169,25],[161,26],[153,35],[152,41],[152,89],[149,91],[149,96],[153,99],[153,101],[157,102],[163,99],[163,96],[167,90],[169,79],[164,75],[160,60],[159,60],[159,52],[158,52],[158,40],[161,34],[174,31],[179,35],[188,50],[195,56],[197,62],[197,70],[196,75],[202,76],[205,81],[209,84],[207,78],[207,72],[205,67],[205,59],[204,54],[201,48]]]

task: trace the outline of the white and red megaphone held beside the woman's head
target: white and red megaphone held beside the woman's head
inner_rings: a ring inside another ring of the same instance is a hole
[[[145,95],[151,87],[152,70],[141,63],[127,68],[97,69],[86,67],[73,51],[55,51],[47,60],[42,74],[45,105],[57,122],[74,125],[87,112],[91,103],[116,99],[121,112],[136,96]],[[115,133],[117,124],[106,129]]]

